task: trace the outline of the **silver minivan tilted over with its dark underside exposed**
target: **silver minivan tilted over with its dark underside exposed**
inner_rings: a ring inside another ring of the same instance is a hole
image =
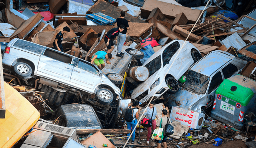
[[[44,92],[51,107],[70,103],[91,105],[104,127],[121,120],[120,89],[90,62],[23,39],[12,39],[2,55],[5,81]],[[12,71],[12,72],[10,72]],[[126,107],[122,107],[126,105]]]

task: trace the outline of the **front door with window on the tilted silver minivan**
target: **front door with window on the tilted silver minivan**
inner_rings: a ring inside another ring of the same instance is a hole
[[[93,90],[101,82],[100,71],[89,62],[79,59],[78,65],[74,66],[70,82]],[[85,89],[86,89],[85,88]],[[88,91],[90,91],[88,90]]]

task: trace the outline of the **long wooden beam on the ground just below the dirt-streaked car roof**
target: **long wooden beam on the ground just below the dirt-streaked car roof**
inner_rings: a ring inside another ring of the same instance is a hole
[[[102,134],[130,134],[131,130],[127,129],[76,129],[76,134],[94,134],[96,132],[102,132]]]

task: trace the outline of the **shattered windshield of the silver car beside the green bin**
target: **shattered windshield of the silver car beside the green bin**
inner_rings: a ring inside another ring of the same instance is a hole
[[[210,77],[188,70],[183,88],[187,91],[202,95],[206,93],[209,81]]]

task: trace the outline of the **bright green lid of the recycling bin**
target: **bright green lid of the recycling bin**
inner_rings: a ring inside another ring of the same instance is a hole
[[[240,103],[242,106],[248,105],[254,95],[250,88],[239,85],[238,83],[232,82],[229,79],[224,79],[216,90],[216,94],[220,94],[232,99]]]

